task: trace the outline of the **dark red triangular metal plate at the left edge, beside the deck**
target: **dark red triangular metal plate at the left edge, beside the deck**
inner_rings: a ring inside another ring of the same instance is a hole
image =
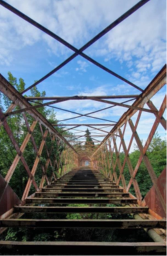
[[[0,175],[0,216],[20,202],[19,197],[17,197],[16,193],[13,192],[9,184]]]

